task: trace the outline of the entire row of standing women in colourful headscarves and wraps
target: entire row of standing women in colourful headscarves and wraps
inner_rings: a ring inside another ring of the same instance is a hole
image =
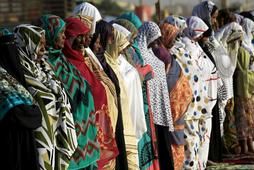
[[[108,23],[85,2],[35,25],[1,30],[1,166],[196,170],[254,151],[252,20],[203,1]]]

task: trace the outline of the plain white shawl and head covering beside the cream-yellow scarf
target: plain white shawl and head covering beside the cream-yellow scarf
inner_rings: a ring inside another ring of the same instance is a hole
[[[121,25],[113,24],[113,27],[125,35],[126,38],[130,38],[131,32]],[[142,86],[137,70],[120,54],[119,58],[119,70],[125,82],[126,91],[128,94],[129,107],[131,111],[131,120],[137,139],[141,139],[142,135],[146,132],[145,112],[143,107],[143,94]]]

